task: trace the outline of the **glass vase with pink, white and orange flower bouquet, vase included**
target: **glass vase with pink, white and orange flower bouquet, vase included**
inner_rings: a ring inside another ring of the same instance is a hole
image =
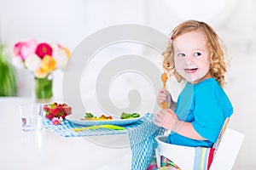
[[[55,42],[37,42],[30,39],[15,43],[13,63],[18,68],[31,71],[35,77],[35,96],[40,102],[52,96],[51,73],[65,69],[70,51]]]

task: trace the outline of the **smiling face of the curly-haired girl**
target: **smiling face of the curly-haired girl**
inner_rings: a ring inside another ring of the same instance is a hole
[[[211,77],[206,44],[206,37],[199,31],[187,32],[173,40],[176,71],[189,83]]]

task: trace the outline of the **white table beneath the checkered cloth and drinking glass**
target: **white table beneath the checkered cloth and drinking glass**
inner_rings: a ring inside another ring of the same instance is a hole
[[[0,98],[0,169],[131,169],[128,135],[61,137],[46,129],[21,131],[19,105],[30,98]]]

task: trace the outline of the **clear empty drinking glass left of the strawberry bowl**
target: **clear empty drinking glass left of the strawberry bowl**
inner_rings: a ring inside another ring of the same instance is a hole
[[[24,132],[43,128],[44,107],[40,104],[20,105],[21,127]]]

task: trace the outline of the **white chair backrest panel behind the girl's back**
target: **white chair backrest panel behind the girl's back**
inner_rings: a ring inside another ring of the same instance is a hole
[[[230,128],[225,129],[222,134],[221,142],[218,144],[210,170],[231,170],[244,138],[245,135],[243,133],[239,133]]]

